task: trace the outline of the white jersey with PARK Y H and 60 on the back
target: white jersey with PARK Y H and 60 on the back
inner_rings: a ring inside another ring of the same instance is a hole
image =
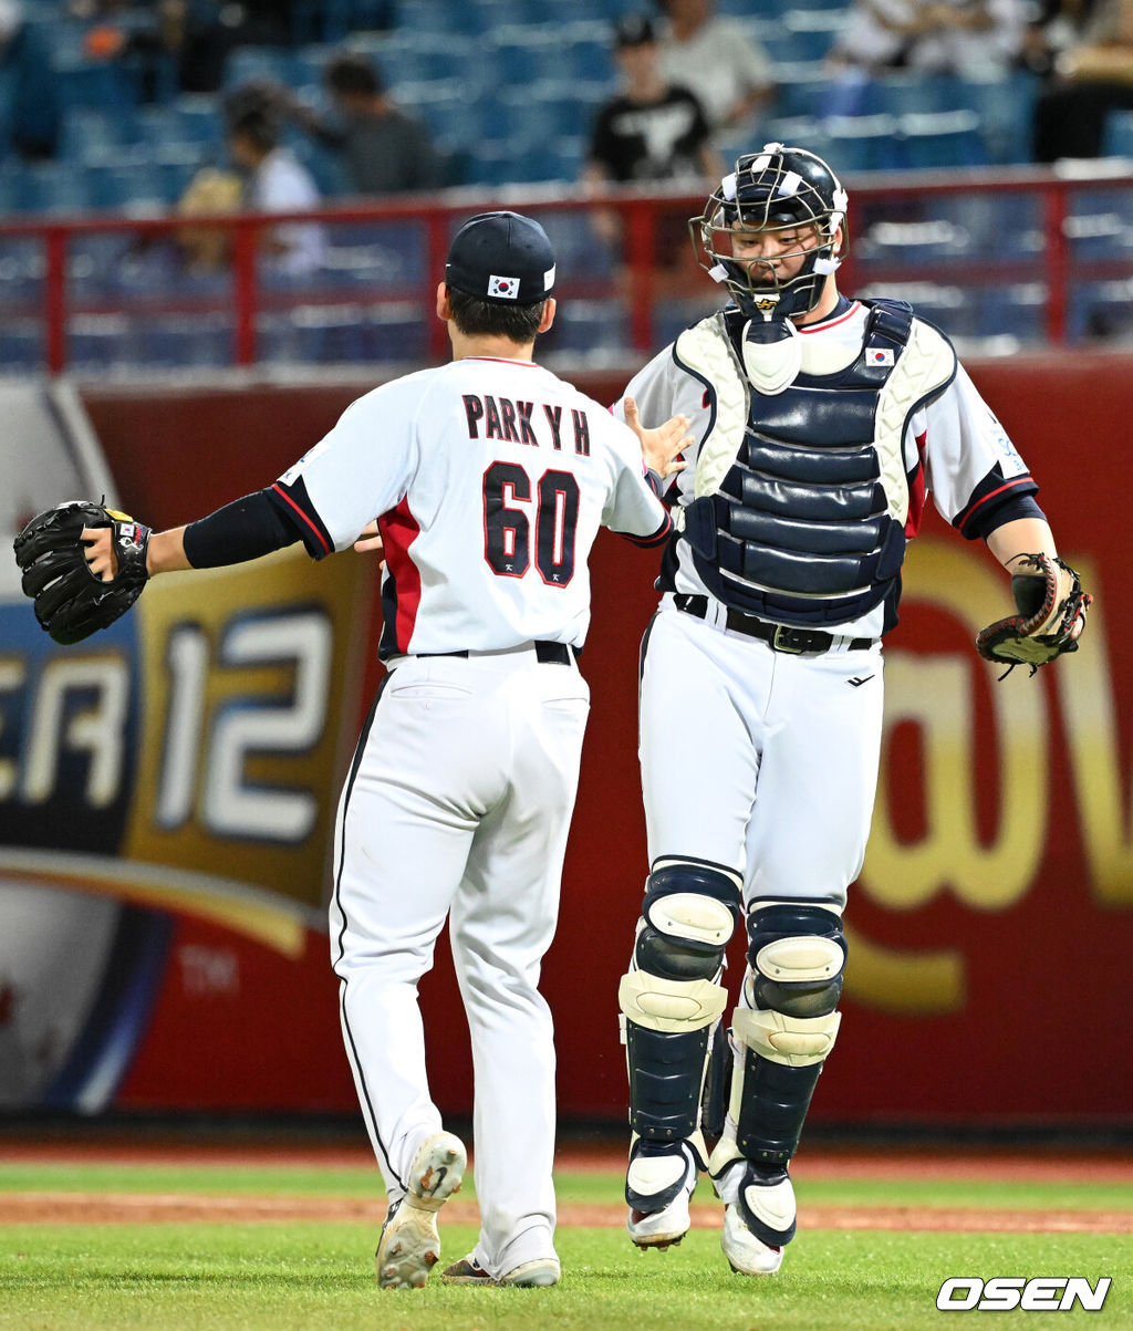
[[[599,524],[642,544],[668,530],[632,431],[529,361],[475,357],[374,389],[280,488],[322,552],[379,516],[383,658],[580,647]]]

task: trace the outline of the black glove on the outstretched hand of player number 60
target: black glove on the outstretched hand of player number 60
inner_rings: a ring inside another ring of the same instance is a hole
[[[87,563],[84,527],[109,527],[118,570],[101,582]],[[24,527],[13,548],[24,570],[24,594],[36,603],[40,627],[64,646],[81,642],[124,615],[149,576],[149,527],[85,499],[48,508]]]

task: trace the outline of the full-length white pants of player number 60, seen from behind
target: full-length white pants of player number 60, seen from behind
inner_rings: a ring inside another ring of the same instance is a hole
[[[537,985],[555,930],[590,691],[534,648],[405,658],[338,811],[330,906],[346,1051],[395,1202],[429,1094],[417,985],[445,917],[475,1078],[474,1174],[491,1275],[551,1256],[555,1054]]]

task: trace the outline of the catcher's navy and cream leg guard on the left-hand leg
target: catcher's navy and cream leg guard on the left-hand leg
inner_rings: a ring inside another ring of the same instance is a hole
[[[698,1129],[712,1028],[727,1005],[719,984],[739,917],[738,874],[663,861],[650,874],[634,964],[622,977],[630,1123],[647,1141]]]

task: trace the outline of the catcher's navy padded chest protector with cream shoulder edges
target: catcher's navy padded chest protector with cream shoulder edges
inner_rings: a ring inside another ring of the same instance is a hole
[[[909,415],[956,374],[956,354],[900,301],[873,301],[859,355],[764,394],[743,373],[743,322],[687,329],[674,357],[710,390],[683,536],[726,606],[790,624],[839,624],[880,604],[905,554]]]

